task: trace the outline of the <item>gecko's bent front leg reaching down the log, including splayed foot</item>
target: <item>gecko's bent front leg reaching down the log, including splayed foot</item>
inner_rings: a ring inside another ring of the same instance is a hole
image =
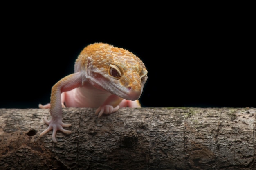
[[[74,74],[70,74],[60,81],[58,81],[52,87],[51,93],[51,105],[50,105],[50,113],[51,119],[47,120],[44,118],[45,123],[48,125],[48,128],[45,129],[40,136],[52,130],[52,141],[57,142],[56,140],[56,132],[62,131],[63,133],[71,133],[64,129],[63,127],[69,127],[71,124],[63,123],[62,121],[62,102],[61,102],[61,93],[72,90],[74,88],[79,87],[82,84],[82,76],[80,72],[76,72]]]

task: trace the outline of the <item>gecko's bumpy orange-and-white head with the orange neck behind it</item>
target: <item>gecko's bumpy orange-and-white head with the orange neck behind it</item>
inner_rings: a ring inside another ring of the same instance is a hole
[[[85,71],[92,85],[126,100],[137,100],[147,81],[144,63],[132,52],[105,43],[85,47],[75,64],[75,72]]]

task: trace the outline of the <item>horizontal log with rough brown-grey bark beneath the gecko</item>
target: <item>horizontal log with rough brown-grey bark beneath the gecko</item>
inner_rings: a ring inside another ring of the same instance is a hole
[[[63,109],[70,135],[39,137],[49,109],[0,109],[0,170],[256,169],[256,108]]]

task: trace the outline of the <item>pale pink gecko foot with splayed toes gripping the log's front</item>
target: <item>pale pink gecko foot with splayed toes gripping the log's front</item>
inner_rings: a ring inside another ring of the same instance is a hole
[[[67,134],[71,133],[71,131],[68,131],[63,128],[63,127],[71,126],[71,124],[69,124],[69,123],[63,123],[62,120],[53,121],[52,118],[51,118],[51,120],[47,120],[46,118],[44,118],[44,121],[46,124],[48,124],[48,127],[42,133],[40,133],[40,135],[39,135],[40,137],[42,135],[46,134],[47,132],[49,132],[50,130],[52,130],[52,141],[57,143],[57,140],[56,140],[56,132],[57,131],[62,131],[63,133],[67,133]]]

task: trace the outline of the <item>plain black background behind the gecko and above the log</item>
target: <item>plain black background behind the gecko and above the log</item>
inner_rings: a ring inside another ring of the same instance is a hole
[[[105,10],[90,12],[69,4],[10,5],[1,22],[0,107],[49,102],[52,85],[74,71],[80,51],[94,42],[130,50],[145,63],[144,107],[256,107],[250,10],[148,5],[102,4]]]

